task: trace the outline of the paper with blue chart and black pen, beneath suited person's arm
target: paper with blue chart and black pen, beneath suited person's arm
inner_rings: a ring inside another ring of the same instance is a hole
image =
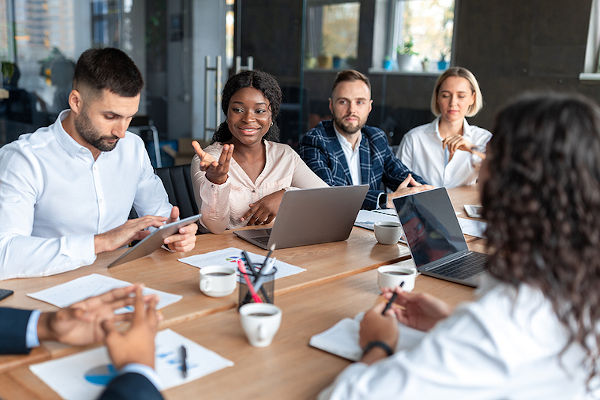
[[[187,378],[181,372],[180,347],[187,351]],[[162,389],[168,389],[211,374],[233,362],[170,329],[156,335],[155,369]],[[31,371],[66,399],[95,399],[117,375],[106,347],[31,365]]]

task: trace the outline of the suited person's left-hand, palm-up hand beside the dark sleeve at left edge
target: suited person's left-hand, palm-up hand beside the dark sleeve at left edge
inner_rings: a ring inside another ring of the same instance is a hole
[[[103,340],[104,331],[100,326],[102,321],[131,319],[131,313],[115,315],[114,311],[133,304],[134,298],[130,295],[137,288],[138,285],[132,285],[113,289],[62,310],[42,313],[38,321],[38,338],[40,341],[55,340],[73,346],[83,346]],[[145,301],[152,299],[156,299],[156,296],[144,298]]]

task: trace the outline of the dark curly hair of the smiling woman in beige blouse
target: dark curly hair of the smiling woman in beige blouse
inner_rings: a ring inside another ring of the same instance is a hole
[[[269,110],[271,111],[271,121],[273,125],[269,128],[269,131],[265,134],[265,140],[278,141],[279,140],[279,128],[275,120],[279,114],[279,106],[281,105],[281,88],[277,83],[277,80],[270,74],[262,71],[242,71],[239,74],[233,75],[227,80],[223,93],[221,96],[221,109],[223,113],[227,115],[229,108],[229,101],[231,97],[240,89],[245,87],[252,87],[262,92],[262,94],[269,100]],[[221,123],[217,128],[217,131],[213,135],[213,143],[220,142],[225,143],[231,140],[231,132],[227,126],[227,121]]]

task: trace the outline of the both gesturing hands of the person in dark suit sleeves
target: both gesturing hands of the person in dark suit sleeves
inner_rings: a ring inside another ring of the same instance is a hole
[[[55,312],[43,312],[38,321],[38,338],[84,346],[104,341],[113,365],[122,368],[130,363],[154,368],[154,337],[162,316],[156,310],[158,297],[142,295],[142,286],[132,285],[90,297]],[[114,311],[135,306],[133,313]],[[116,322],[130,321],[121,333]]]

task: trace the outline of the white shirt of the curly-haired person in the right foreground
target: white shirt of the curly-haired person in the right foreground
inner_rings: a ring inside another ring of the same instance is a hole
[[[541,291],[521,285],[516,293],[489,277],[483,286],[415,348],[350,365],[319,398],[593,398],[585,393],[583,349],[559,356],[567,333]]]

